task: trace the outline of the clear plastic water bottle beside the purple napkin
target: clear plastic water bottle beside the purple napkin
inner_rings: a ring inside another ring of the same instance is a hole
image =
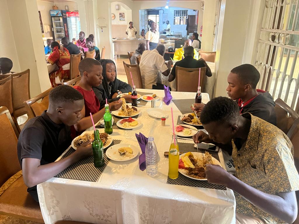
[[[154,177],[158,174],[158,152],[154,137],[149,137],[145,147],[145,164],[147,175]]]

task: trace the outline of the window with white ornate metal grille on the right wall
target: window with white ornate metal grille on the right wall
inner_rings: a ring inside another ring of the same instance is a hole
[[[299,1],[266,0],[254,66],[259,88],[299,111]]]

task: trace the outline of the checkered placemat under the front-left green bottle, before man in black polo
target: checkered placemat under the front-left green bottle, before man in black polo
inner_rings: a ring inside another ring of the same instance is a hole
[[[121,140],[112,140],[112,145],[120,144]],[[109,147],[110,147],[109,146]],[[75,150],[70,148],[61,159],[68,157],[71,155]],[[105,149],[104,149],[105,151]],[[72,180],[83,180],[89,182],[97,182],[100,178],[101,174],[103,173],[104,169],[106,168],[110,159],[106,157],[106,153],[104,153],[104,160],[105,165],[101,168],[97,168],[94,166],[94,157],[87,157],[85,159],[81,159],[80,161],[70,165],[64,171],[57,174],[55,177],[64,178],[64,179],[72,179]]]

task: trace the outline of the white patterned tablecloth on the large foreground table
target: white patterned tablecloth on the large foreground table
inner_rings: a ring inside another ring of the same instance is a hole
[[[138,91],[138,90],[137,90]],[[163,90],[140,90],[164,96]],[[191,99],[195,93],[172,92],[174,99]],[[202,93],[202,102],[209,96]],[[160,105],[158,101],[156,105]],[[113,130],[113,138],[121,139],[139,148],[135,133],[153,136],[157,145],[158,175],[149,177],[139,169],[138,157],[127,162],[110,161],[98,182],[51,178],[37,186],[42,215],[46,224],[57,220],[75,220],[87,223],[235,223],[235,198],[230,189],[216,190],[167,184],[168,158],[164,151],[171,143],[171,113],[175,122],[181,114],[173,102],[161,104],[169,115],[166,126],[161,120],[149,117],[140,106],[141,127],[124,131]],[[191,140],[179,140],[189,142]],[[140,150],[141,153],[141,150]],[[222,152],[220,161],[224,166]]]

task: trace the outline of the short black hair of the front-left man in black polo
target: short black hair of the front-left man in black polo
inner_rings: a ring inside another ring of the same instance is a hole
[[[69,85],[59,85],[51,90],[49,94],[49,104],[67,103],[82,100],[81,93]]]

